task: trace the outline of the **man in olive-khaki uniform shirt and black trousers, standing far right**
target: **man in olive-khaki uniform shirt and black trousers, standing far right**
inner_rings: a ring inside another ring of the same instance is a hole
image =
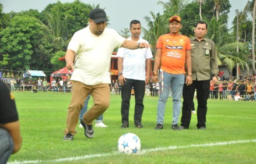
[[[207,100],[209,97],[210,81],[217,82],[218,57],[215,43],[205,37],[208,25],[199,21],[195,28],[195,37],[191,41],[192,58],[192,85],[184,85],[183,108],[180,129],[188,129],[191,120],[191,104],[194,99],[194,92],[197,90],[197,129],[206,129],[206,113],[208,110]]]

